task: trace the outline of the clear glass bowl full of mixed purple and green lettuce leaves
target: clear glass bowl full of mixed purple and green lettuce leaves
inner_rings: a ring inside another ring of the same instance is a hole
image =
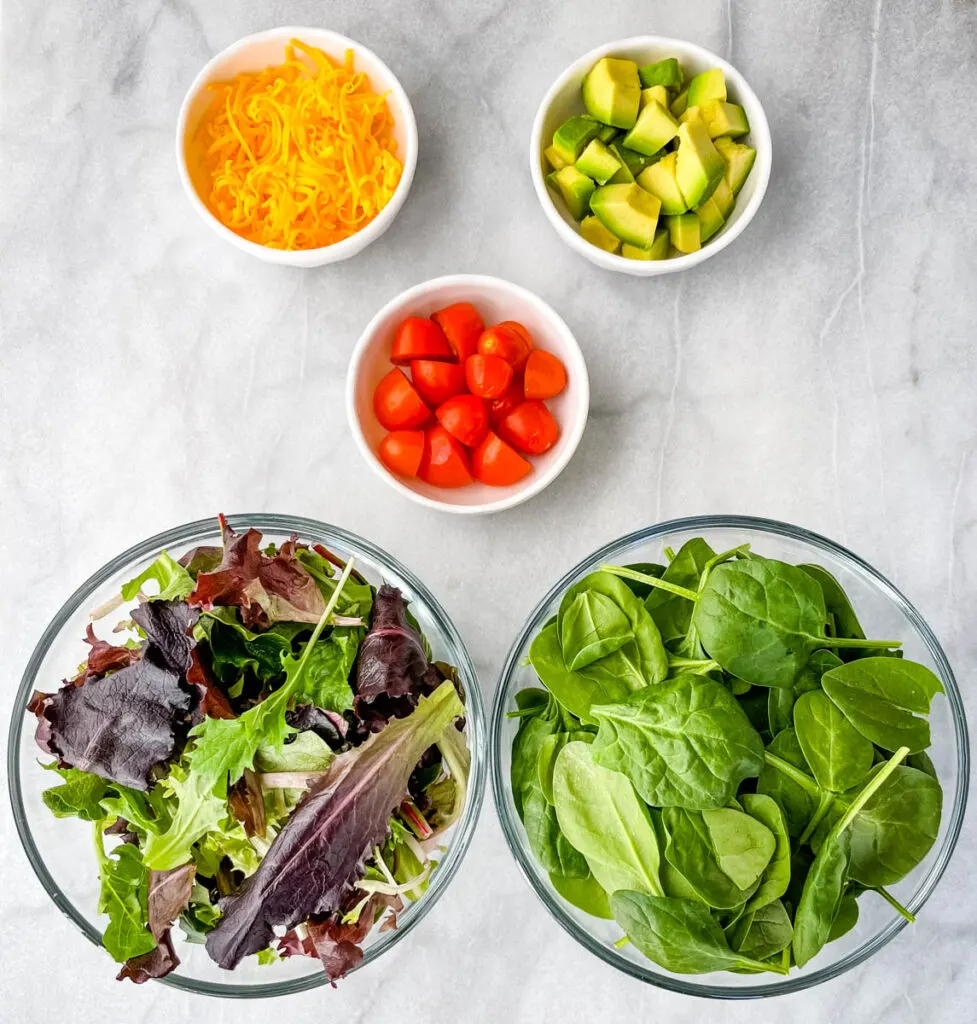
[[[120,979],[284,995],[378,959],[448,888],[484,720],[461,637],[394,558],[312,519],[220,517],[65,602],[7,769],[31,866]]]

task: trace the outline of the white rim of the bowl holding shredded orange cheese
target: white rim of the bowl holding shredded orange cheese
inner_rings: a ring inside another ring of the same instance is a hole
[[[186,121],[189,116],[190,104],[201,89],[206,86],[213,75],[214,68],[218,63],[255,43],[273,42],[277,39],[282,39],[284,42],[288,42],[289,39],[301,39],[305,42],[308,38],[310,45],[315,46],[317,44],[310,40],[312,36],[317,37],[318,40],[329,40],[329,42],[334,43],[336,46],[351,49],[354,55],[358,56],[363,54],[368,60],[373,61],[383,70],[384,74],[389,78],[389,88],[387,91],[394,94],[402,112],[400,120],[407,135],[407,152],[402,156],[400,154],[397,155],[402,165],[402,171],[400,181],[393,196],[390,197],[390,202],[387,203],[369,224],[356,231],[355,234],[351,234],[348,239],[343,239],[341,242],[335,242],[330,246],[318,246],[315,249],[271,249],[268,246],[262,246],[257,242],[251,242],[249,239],[242,238],[225,224],[222,224],[198,195],[197,189],[194,187],[194,182],[190,180],[183,152],[183,142],[186,136]],[[400,84],[400,80],[396,75],[390,71],[386,62],[381,60],[369,46],[365,46],[363,43],[358,43],[356,40],[350,39],[339,32],[333,32],[331,29],[320,29],[311,26],[282,26],[277,29],[266,29],[263,32],[252,33],[250,36],[243,36],[229,46],[225,46],[222,50],[215,53],[197,74],[197,77],[186,90],[183,102],[180,104],[179,115],[176,119],[176,167],[190,205],[225,242],[229,242],[243,252],[257,256],[266,262],[280,263],[286,266],[308,267],[324,263],[338,263],[341,260],[348,259],[350,256],[355,256],[356,253],[380,238],[393,222],[393,219],[400,212],[400,208],[407,201],[408,193],[411,190],[411,184],[414,181],[414,172],[417,168],[417,119],[414,116],[414,108],[411,105],[407,90]],[[324,259],[327,253],[329,254],[329,258]]]

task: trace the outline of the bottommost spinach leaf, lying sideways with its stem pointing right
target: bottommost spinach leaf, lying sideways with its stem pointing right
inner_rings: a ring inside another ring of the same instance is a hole
[[[615,892],[610,896],[614,920],[648,959],[676,974],[711,971],[778,970],[733,952],[709,908],[694,900]]]

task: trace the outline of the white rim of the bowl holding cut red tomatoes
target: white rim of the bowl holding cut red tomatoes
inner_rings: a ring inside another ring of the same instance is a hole
[[[428,292],[435,288],[448,286],[469,286],[473,290],[478,288],[501,289],[502,291],[509,292],[510,294],[518,295],[525,302],[537,306],[541,312],[545,313],[547,317],[551,317],[555,322],[557,330],[563,333],[564,338],[568,343],[569,351],[572,353],[574,359],[577,364],[572,373],[575,386],[579,386],[580,388],[579,406],[581,412],[576,421],[570,425],[570,429],[568,431],[568,441],[564,446],[560,458],[554,460],[545,471],[530,477],[530,482],[527,483],[521,490],[516,492],[516,494],[509,495],[506,498],[500,498],[495,501],[483,502],[479,505],[453,505],[450,502],[440,502],[434,498],[428,498],[427,495],[418,494],[418,492],[397,479],[397,477],[383,465],[377,457],[377,454],[370,446],[359,423],[359,417],[356,415],[356,381],[359,376],[360,364],[363,362],[364,355],[366,354],[367,349],[370,346],[370,342],[373,339],[381,321],[395,307],[413,302],[416,299],[423,298]],[[424,505],[430,509],[436,509],[439,512],[453,512],[458,515],[486,515],[490,512],[502,512],[505,509],[515,508],[515,506],[521,505],[523,502],[527,502],[530,498],[536,497],[536,495],[540,494],[540,492],[542,492],[545,487],[549,486],[566,468],[570,459],[572,459],[574,453],[577,451],[578,444],[580,444],[581,437],[584,436],[584,429],[587,426],[589,411],[590,377],[587,373],[587,362],[584,359],[584,352],[580,347],[580,343],[574,336],[574,332],[570,331],[569,327],[567,327],[566,322],[545,299],[541,298],[535,292],[530,292],[527,288],[523,288],[521,285],[516,285],[511,281],[506,281],[504,278],[495,278],[492,274],[445,274],[441,278],[431,278],[428,281],[421,282],[421,284],[415,285],[413,288],[409,288],[395,295],[389,302],[385,303],[380,310],[378,310],[373,319],[371,319],[367,325],[363,334],[360,334],[349,359],[349,369],[346,372],[346,417],[349,420],[349,430],[352,433],[353,440],[356,442],[356,446],[359,449],[360,454],[367,460],[370,467],[391,487],[393,487],[394,490],[407,498],[410,498],[411,501],[417,502],[419,505]]]

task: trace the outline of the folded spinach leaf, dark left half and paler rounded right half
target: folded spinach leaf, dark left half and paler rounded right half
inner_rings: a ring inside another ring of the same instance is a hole
[[[665,859],[717,909],[732,909],[753,895],[776,846],[769,828],[734,808],[666,807],[662,821],[668,833]]]

